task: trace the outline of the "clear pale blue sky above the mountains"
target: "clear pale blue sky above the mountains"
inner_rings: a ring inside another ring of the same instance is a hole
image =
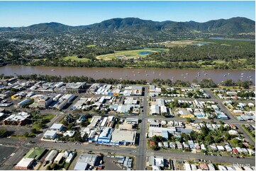
[[[255,20],[255,1],[0,1],[0,27],[89,25],[126,17],[206,22],[236,16]]]

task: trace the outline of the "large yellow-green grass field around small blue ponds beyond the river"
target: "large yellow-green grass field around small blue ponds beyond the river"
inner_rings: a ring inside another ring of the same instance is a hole
[[[147,57],[150,53],[155,53],[157,51],[166,51],[167,49],[161,48],[150,48],[150,49],[139,49],[139,50],[126,50],[126,51],[115,51],[114,54],[103,54],[96,57],[96,59],[104,59],[106,61],[111,59],[130,59],[138,57]],[[139,53],[148,53],[148,54],[139,54]]]

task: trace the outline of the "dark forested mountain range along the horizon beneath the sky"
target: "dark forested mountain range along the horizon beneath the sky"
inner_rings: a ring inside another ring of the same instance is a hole
[[[243,17],[230,19],[209,20],[205,23],[195,21],[176,22],[176,21],[152,21],[140,18],[112,18],[101,23],[91,25],[69,26],[61,23],[40,23],[22,28],[0,28],[0,31],[24,32],[33,30],[34,32],[65,33],[70,30],[91,30],[95,32],[103,31],[128,31],[143,34],[159,33],[214,33],[214,34],[240,34],[250,33],[255,35],[255,21]]]

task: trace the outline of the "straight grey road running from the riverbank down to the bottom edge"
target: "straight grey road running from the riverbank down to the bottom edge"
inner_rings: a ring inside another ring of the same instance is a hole
[[[139,115],[140,123],[140,143],[137,147],[137,155],[136,155],[136,170],[145,170],[146,167],[146,151],[147,151],[147,123],[148,123],[148,86],[145,86],[145,93],[143,97],[143,113]]]

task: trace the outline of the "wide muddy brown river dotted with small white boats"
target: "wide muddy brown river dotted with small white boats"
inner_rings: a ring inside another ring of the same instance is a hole
[[[216,83],[226,79],[237,81],[251,80],[255,84],[255,71],[253,70],[201,70],[201,69],[121,69],[121,68],[72,68],[72,67],[45,67],[45,66],[2,66],[0,73],[6,76],[41,74],[53,76],[90,76],[94,79],[116,78],[150,81],[154,78],[200,81],[211,78]]]

